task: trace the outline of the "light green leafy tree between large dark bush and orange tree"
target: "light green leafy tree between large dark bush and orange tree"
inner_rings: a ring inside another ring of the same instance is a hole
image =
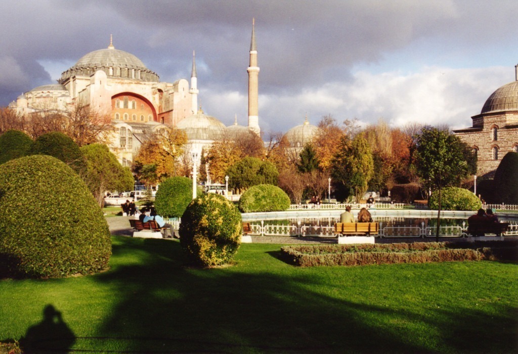
[[[133,189],[135,180],[127,167],[122,165],[104,144],[90,144],[81,147],[81,152],[87,161],[87,173],[84,180],[87,183],[97,203],[104,206],[105,192],[108,190]]]

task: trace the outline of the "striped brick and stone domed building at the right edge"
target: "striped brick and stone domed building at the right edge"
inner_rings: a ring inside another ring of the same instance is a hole
[[[477,154],[477,173],[492,177],[506,153],[518,152],[518,65],[515,81],[493,92],[471,119],[472,127],[454,132]]]

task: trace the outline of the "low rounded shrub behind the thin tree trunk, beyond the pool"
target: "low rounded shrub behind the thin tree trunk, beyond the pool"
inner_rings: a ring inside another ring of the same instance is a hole
[[[480,199],[471,191],[458,187],[445,187],[441,192],[442,210],[479,210],[482,206]],[[436,190],[428,199],[428,208],[439,208],[439,191]]]

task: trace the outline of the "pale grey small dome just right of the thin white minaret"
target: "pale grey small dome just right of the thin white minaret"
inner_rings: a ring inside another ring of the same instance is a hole
[[[176,126],[187,134],[189,140],[220,140],[225,131],[225,125],[213,116],[204,114],[201,109],[198,113],[182,119]]]

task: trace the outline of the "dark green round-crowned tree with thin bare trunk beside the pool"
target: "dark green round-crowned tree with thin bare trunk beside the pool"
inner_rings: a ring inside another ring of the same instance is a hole
[[[468,173],[461,140],[450,131],[424,127],[416,136],[415,166],[423,184],[438,190],[437,233],[441,215],[441,191],[443,187],[459,185]]]

